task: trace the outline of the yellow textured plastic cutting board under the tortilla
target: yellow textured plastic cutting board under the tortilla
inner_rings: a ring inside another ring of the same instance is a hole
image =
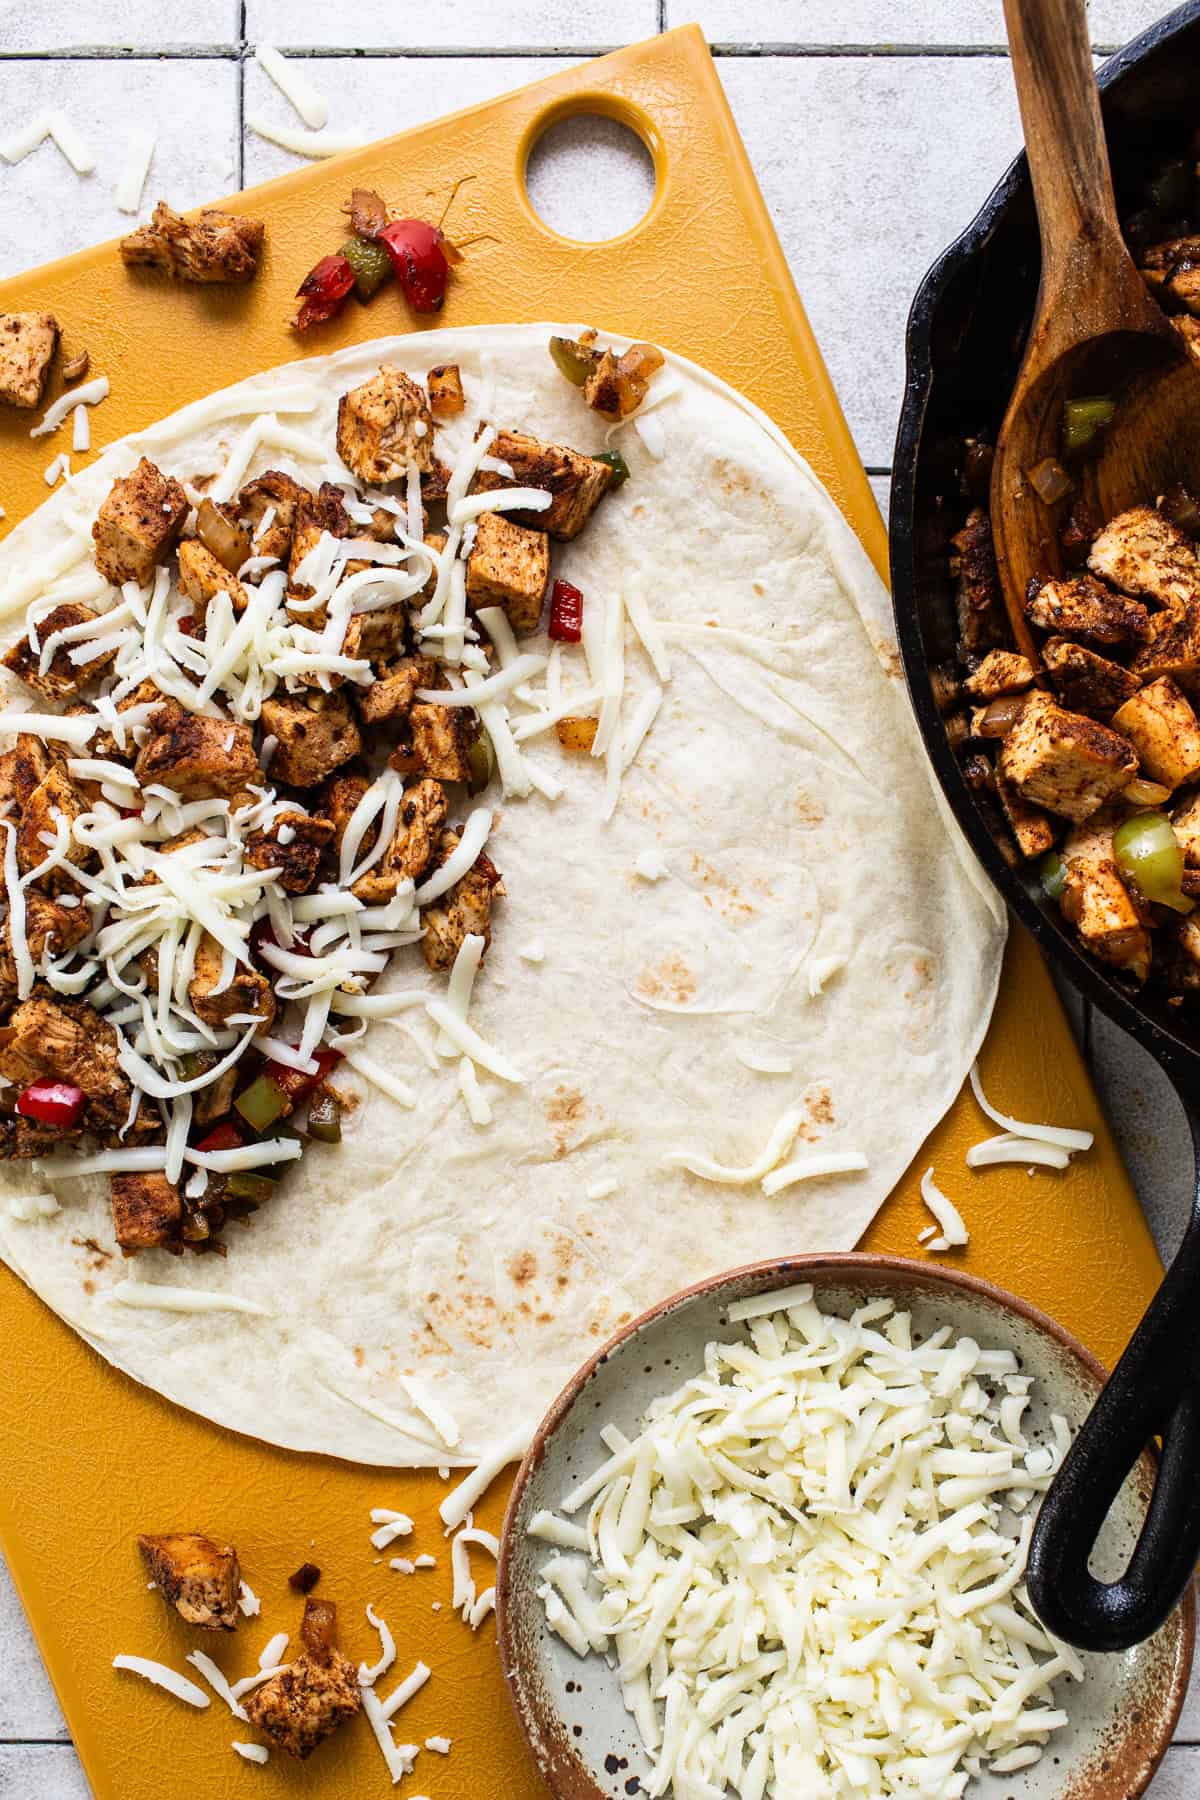
[[[556,236],[525,196],[529,148],[572,112],[624,119],[655,158],[651,211],[612,243]],[[52,310],[68,342],[86,344],[94,373],[113,383],[94,414],[97,437],[112,443],[300,347],[318,353],[408,329],[414,320],[394,288],[365,310],[347,306],[306,346],[286,320],[300,277],[344,236],[340,209],[353,184],[437,216],[455,182],[462,185],[448,227],[457,239],[479,241],[455,272],[446,324],[592,319],[696,358],[779,421],[885,569],[880,515],[696,27],[241,196],[234,207],[268,221],[263,272],[248,288],[167,286],[131,275],[104,245],[0,284],[0,308]],[[29,423],[7,410],[0,423],[11,520],[45,499],[41,470],[58,446],[31,443]],[[1061,1175],[997,1168],[966,1177],[964,1150],[990,1130],[968,1093],[865,1244],[919,1255],[927,1215],[918,1179],[936,1163],[966,1197],[972,1244],[963,1264],[1045,1307],[1112,1361],[1160,1269],[1051,981],[1020,934],[982,1067],[999,1103],[1027,1118],[1087,1125],[1097,1132],[1096,1148]],[[378,1800],[389,1791],[363,1721],[302,1768],[281,1755],[252,1768],[230,1751],[239,1728],[219,1701],[196,1714],[110,1667],[113,1654],[131,1652],[184,1669],[185,1651],[201,1643],[234,1676],[248,1672],[270,1634],[295,1633],[300,1606],[286,1577],[304,1561],[326,1571],[320,1591],[338,1600],[353,1656],[378,1654],[363,1624],[363,1606],[374,1600],[399,1645],[394,1674],[417,1656],[434,1670],[399,1715],[398,1735],[419,1744],[444,1733],[453,1750],[448,1759],[423,1751],[401,1795],[536,1800],[543,1793],[509,1715],[493,1624],[471,1636],[450,1611],[435,1474],[360,1471],[218,1431],[108,1368],[4,1269],[0,1343],[0,1541],[97,1800],[254,1793]],[[221,1355],[219,1316],[212,1355]],[[498,1525],[504,1489],[497,1483],[479,1508],[480,1523]],[[408,1579],[385,1561],[376,1566],[371,1507],[410,1512],[416,1535],[396,1550],[428,1550],[437,1568]],[[237,1543],[263,1600],[259,1620],[216,1645],[146,1591],[133,1550],[139,1530],[193,1526]],[[480,1588],[489,1579],[482,1557]],[[243,1726],[241,1735],[254,1733]]]

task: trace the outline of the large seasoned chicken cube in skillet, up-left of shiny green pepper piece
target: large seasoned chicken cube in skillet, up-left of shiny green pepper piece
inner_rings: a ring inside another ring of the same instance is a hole
[[[999,770],[1022,799],[1079,824],[1133,778],[1137,752],[1128,738],[1034,691],[1004,738]]]

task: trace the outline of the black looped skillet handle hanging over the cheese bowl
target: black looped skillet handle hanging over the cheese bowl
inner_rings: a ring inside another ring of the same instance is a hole
[[[1200,1143],[1200,1120],[1191,1116]],[[1119,1580],[1088,1570],[1108,1508],[1162,1438],[1153,1498]],[[1200,1561],[1200,1192],[1175,1262],[1042,1503],[1029,1597],[1058,1638],[1126,1651],[1168,1618]]]

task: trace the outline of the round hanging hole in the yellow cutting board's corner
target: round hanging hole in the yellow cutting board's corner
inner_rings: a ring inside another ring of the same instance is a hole
[[[545,128],[525,164],[525,189],[551,230],[603,243],[649,212],[655,164],[631,126],[581,112]]]

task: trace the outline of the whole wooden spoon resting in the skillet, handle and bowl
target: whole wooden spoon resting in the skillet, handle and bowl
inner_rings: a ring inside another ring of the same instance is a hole
[[[1096,527],[1153,506],[1171,482],[1200,493],[1200,364],[1124,247],[1108,171],[1085,0],[1004,0],[1042,232],[1042,283],[997,443],[991,531],[1018,648],[1040,668],[1025,589],[1065,571],[1060,527],[1083,502]],[[999,346],[997,346],[999,353]],[[1061,461],[1067,400],[1115,401],[1097,443],[1067,464],[1074,493],[1047,506],[1029,472]]]

